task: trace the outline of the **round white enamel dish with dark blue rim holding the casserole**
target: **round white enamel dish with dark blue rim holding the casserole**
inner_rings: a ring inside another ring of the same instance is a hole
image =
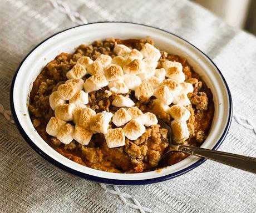
[[[124,22],[91,23],[67,29],[38,44],[23,59],[13,77],[10,99],[13,119],[27,143],[43,158],[59,168],[106,184],[151,184],[175,178],[203,163],[205,159],[189,156],[177,164],[164,168],[161,172],[150,171],[138,174],[116,174],[87,168],[52,149],[35,131],[29,116],[24,116],[24,114],[29,115],[28,96],[34,80],[47,62],[50,62],[56,55],[61,52],[72,53],[79,44],[89,44],[94,40],[111,37],[119,39],[145,38],[146,36],[154,39],[157,48],[185,57],[211,89],[215,113],[209,135],[201,147],[218,149],[228,133],[232,118],[232,99],[220,70],[203,52],[184,39],[161,29]]]

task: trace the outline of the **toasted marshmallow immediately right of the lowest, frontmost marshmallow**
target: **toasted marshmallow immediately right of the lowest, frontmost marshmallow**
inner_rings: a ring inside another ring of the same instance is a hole
[[[138,139],[143,133],[145,133],[145,126],[138,120],[132,119],[124,126],[124,133],[126,138],[130,140]]]

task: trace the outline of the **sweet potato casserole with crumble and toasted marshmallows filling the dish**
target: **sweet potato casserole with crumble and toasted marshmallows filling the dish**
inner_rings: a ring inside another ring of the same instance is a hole
[[[30,93],[38,134],[78,164],[113,173],[141,173],[164,164],[168,131],[174,144],[199,146],[214,114],[210,89],[185,58],[147,39],[81,44],[47,63]]]

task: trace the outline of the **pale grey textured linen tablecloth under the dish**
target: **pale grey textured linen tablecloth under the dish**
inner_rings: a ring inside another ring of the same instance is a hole
[[[234,114],[250,123],[248,127],[233,119],[219,150],[256,157],[254,36],[227,26],[204,8],[184,0],[65,2],[88,22],[147,24],[178,34],[208,54],[227,80]],[[4,110],[9,110],[10,84],[18,64],[43,39],[76,23],[50,1],[0,3],[0,104],[4,108],[0,107],[0,212],[149,211],[125,205],[120,195],[48,163],[8,120]],[[256,212],[256,175],[210,160],[169,181],[119,189],[152,212]],[[126,199],[132,204],[136,201]]]

